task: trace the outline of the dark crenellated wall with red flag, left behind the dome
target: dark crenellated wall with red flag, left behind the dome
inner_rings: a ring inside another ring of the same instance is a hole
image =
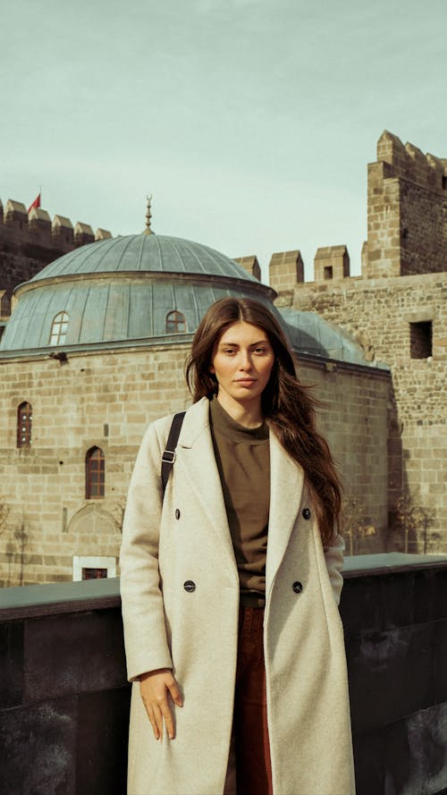
[[[27,282],[49,262],[67,251],[112,237],[105,229],[96,233],[89,224],[49,214],[41,207],[30,213],[21,201],[0,199],[0,318],[11,312],[14,287]]]

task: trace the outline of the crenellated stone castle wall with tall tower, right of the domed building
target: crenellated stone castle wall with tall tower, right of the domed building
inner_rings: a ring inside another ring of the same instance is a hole
[[[361,276],[343,245],[317,250],[309,283],[298,250],[270,263],[282,311],[317,313],[391,367],[389,527],[405,526],[409,551],[447,549],[446,190],[447,160],[385,131],[368,166]]]

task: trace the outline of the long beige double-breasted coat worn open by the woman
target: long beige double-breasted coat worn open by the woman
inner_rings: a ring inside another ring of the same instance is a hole
[[[239,578],[207,399],[187,411],[162,505],[171,418],[148,427],[131,478],[121,554],[133,685],[129,795],[222,795],[232,733]],[[342,622],[342,538],[325,552],[302,469],[270,434],[265,655],[274,795],[353,795]],[[310,518],[306,519],[310,508]],[[184,583],[191,580],[193,591]],[[292,585],[302,584],[297,594]],[[140,673],[172,667],[184,706],[155,740]]]

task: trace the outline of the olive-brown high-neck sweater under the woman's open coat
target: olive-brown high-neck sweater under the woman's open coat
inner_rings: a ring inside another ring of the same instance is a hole
[[[270,508],[270,448],[266,422],[247,428],[214,398],[211,435],[240,577],[240,604],[266,602],[266,551]]]

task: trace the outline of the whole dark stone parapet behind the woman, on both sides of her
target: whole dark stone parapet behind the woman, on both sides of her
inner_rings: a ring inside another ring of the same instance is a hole
[[[447,788],[447,556],[348,557],[358,795]],[[0,591],[0,791],[122,795],[130,686],[119,580]]]

